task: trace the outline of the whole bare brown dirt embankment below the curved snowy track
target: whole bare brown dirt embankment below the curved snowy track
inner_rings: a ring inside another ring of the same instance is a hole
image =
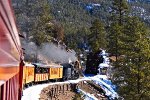
[[[49,85],[41,91],[39,100],[83,100],[76,97],[78,88],[93,94],[98,100],[107,100],[103,90],[91,81]]]

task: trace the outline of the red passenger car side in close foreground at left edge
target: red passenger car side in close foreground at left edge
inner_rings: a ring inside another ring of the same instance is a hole
[[[0,0],[0,100],[20,100],[22,49],[10,0]]]

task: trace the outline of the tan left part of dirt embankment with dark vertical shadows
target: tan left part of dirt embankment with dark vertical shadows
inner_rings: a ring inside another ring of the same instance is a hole
[[[40,100],[72,100],[77,84],[56,84],[44,88]]]

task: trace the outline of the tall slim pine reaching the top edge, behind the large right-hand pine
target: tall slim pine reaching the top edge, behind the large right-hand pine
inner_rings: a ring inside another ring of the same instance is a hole
[[[122,34],[122,25],[128,15],[128,5],[125,0],[113,0],[110,26],[108,32],[108,51],[116,57],[116,65],[118,63],[119,39]]]

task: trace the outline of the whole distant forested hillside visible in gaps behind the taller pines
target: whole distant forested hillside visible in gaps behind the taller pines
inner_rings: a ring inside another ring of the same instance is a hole
[[[36,22],[34,2],[36,0],[12,0],[21,33],[32,36],[33,24]],[[50,15],[64,30],[64,42],[76,48],[90,34],[91,23],[100,19],[105,26],[109,25],[112,0],[48,0]],[[140,17],[150,25],[149,0],[128,0],[130,15]],[[57,29],[57,28],[56,28]],[[57,31],[57,30],[56,30]],[[80,35],[79,35],[80,34]],[[88,41],[85,41],[88,42]]]

